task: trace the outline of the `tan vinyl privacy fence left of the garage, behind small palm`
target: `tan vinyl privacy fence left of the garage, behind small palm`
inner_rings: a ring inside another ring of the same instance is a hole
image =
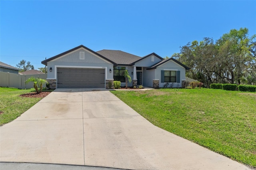
[[[30,74],[30,75],[19,75],[15,73],[5,73],[0,71],[0,87],[15,87],[18,89],[30,89],[34,88],[33,82],[25,83],[30,77],[36,77],[40,79],[46,79],[47,74]],[[43,87],[46,87],[44,84]]]

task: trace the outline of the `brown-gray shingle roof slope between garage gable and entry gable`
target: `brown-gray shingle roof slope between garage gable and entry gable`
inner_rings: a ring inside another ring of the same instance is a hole
[[[124,51],[120,50],[109,50],[109,49],[103,49],[100,51],[97,51],[100,55],[103,55],[104,57],[110,59],[111,61],[115,61],[118,65],[130,65],[131,63],[134,63],[135,61],[142,59],[142,57],[139,57],[137,55],[133,55],[130,53],[126,53]]]

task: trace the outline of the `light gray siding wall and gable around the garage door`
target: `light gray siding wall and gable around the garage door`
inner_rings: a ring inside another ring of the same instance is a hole
[[[84,52],[84,59],[80,59],[80,52]],[[109,69],[113,70],[113,64],[106,61],[84,49],[79,49],[47,62],[48,79],[56,79],[56,67],[70,68],[106,68],[106,79],[113,79],[113,71],[109,73]],[[49,69],[52,67],[52,72]]]

